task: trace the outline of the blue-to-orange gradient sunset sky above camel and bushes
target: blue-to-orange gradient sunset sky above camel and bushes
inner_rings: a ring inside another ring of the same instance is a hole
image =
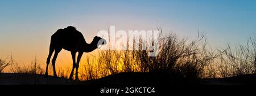
[[[13,55],[19,63],[35,56],[46,62],[51,34],[73,25],[92,41],[98,30],[162,27],[165,33],[196,37],[204,32],[213,47],[243,44],[256,32],[255,0],[2,0],[0,58]],[[71,58],[62,51],[57,60]]]

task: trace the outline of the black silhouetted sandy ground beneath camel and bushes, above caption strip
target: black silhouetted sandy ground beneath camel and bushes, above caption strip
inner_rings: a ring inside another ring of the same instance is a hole
[[[189,81],[163,73],[118,73],[98,80],[74,81],[63,77],[0,73],[0,85],[256,85],[256,75],[228,78],[205,78]]]

